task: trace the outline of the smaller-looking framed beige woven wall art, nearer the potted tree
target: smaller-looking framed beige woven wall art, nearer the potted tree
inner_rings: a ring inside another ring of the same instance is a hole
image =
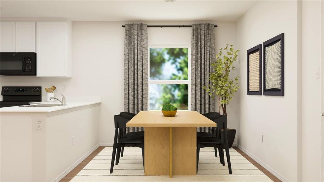
[[[262,95],[262,44],[248,50],[248,95]]]

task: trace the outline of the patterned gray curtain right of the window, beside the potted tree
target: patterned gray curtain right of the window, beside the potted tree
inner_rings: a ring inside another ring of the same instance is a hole
[[[191,111],[215,111],[215,100],[203,86],[210,84],[211,63],[215,59],[214,25],[192,24],[191,29]],[[211,127],[197,127],[197,131],[211,132]]]

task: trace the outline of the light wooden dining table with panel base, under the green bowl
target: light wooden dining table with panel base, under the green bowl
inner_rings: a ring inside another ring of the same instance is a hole
[[[165,117],[161,111],[141,111],[127,127],[145,127],[145,175],[196,175],[197,127],[216,123],[196,111],[178,111]]]

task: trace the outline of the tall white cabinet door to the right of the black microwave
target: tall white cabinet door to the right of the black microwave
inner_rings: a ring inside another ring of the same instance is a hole
[[[37,77],[71,77],[69,22],[36,22]]]

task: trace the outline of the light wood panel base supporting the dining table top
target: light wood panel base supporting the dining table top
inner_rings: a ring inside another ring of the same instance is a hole
[[[196,127],[145,127],[145,175],[196,175]]]

